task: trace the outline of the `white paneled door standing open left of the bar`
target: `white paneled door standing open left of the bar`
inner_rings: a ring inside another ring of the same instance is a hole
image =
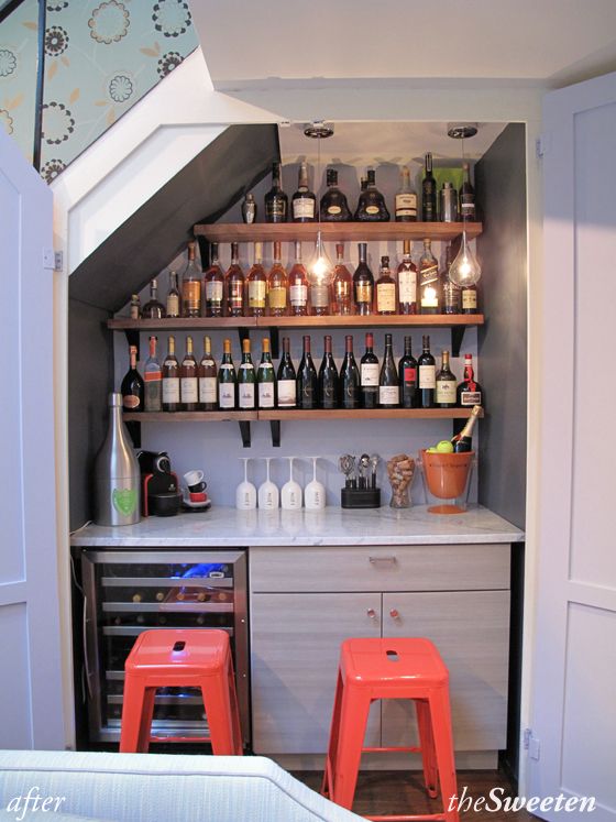
[[[0,129],[0,747],[64,747],[52,195]]]

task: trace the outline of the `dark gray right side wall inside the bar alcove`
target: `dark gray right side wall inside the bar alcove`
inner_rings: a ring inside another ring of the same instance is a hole
[[[477,240],[481,300],[480,502],[525,527],[527,248],[525,127],[509,124],[475,165],[484,231]]]

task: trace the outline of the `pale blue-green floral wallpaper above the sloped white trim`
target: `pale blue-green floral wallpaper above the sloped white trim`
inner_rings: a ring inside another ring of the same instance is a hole
[[[0,123],[32,160],[37,3],[0,26]],[[186,0],[47,0],[41,175],[56,177],[197,46]]]

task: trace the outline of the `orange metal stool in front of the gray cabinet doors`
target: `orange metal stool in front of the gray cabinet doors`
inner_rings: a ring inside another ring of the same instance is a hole
[[[378,699],[415,701],[419,747],[363,747],[370,704]],[[342,643],[323,796],[351,810],[362,753],[383,750],[421,753],[426,789],[433,799],[438,794],[437,782],[440,782],[443,810],[432,814],[369,819],[458,822],[449,672],[429,639],[371,638]]]

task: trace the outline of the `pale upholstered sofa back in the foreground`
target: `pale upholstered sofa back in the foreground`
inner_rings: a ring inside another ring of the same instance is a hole
[[[260,756],[1,750],[0,820],[360,822],[361,818]]]

